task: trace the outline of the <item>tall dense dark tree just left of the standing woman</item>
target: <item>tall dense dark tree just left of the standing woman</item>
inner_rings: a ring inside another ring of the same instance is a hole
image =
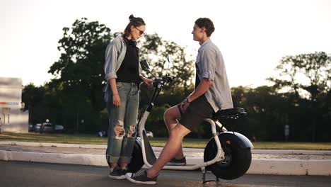
[[[105,47],[112,39],[110,28],[98,21],[88,22],[86,18],[76,20],[72,28],[63,28],[59,40],[62,52],[49,73],[55,76],[53,86],[61,88],[66,106],[76,108],[76,130],[79,130],[80,108],[83,102],[91,102],[95,123],[100,125],[100,111],[105,108],[102,91],[105,84],[103,64]]]

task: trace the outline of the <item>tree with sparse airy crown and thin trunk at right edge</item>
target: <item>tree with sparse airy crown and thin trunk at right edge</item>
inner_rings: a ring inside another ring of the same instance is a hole
[[[298,99],[308,98],[310,101],[311,132],[312,140],[315,141],[318,118],[316,108],[320,108],[318,98],[331,89],[331,57],[325,52],[286,56],[281,59],[276,70],[279,78],[268,78],[274,82],[275,88],[292,90]],[[304,79],[307,81],[303,82]]]

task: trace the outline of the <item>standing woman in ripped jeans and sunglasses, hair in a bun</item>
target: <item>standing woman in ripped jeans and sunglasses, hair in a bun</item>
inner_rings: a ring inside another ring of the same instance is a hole
[[[142,18],[129,16],[123,35],[110,42],[105,52],[105,101],[109,115],[107,162],[109,177],[125,179],[136,135],[139,84],[153,81],[141,75],[137,40],[144,35]]]

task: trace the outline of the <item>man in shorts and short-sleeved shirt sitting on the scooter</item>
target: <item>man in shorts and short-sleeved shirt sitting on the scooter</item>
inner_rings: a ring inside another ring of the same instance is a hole
[[[233,108],[231,90],[219,48],[211,42],[210,36],[215,30],[209,18],[198,18],[192,31],[193,40],[199,42],[196,61],[195,90],[178,106],[165,111],[164,120],[169,131],[169,140],[160,156],[148,170],[125,177],[134,183],[155,184],[165,164],[185,165],[182,152],[182,139],[194,128],[220,109]],[[180,123],[177,122],[180,121]]]

